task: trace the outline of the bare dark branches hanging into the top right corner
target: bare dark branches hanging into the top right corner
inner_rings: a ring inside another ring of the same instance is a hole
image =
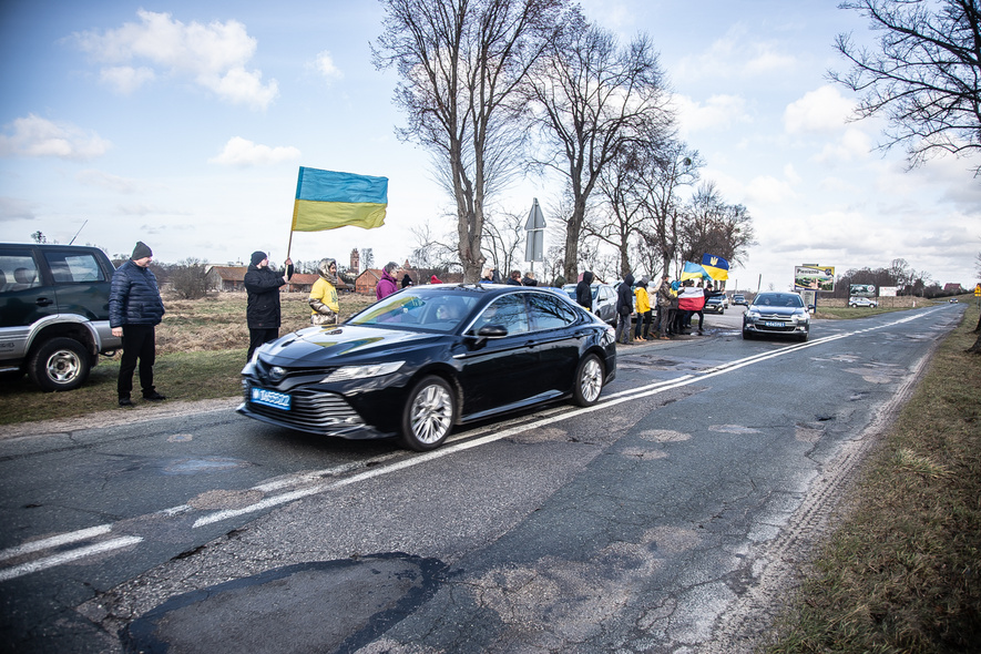
[[[981,10],[977,0],[844,2],[880,32],[879,50],[839,34],[837,50],[851,69],[831,80],[861,92],[858,117],[885,114],[883,147],[903,144],[910,167],[931,153],[981,151]],[[974,166],[974,176],[981,165]]]

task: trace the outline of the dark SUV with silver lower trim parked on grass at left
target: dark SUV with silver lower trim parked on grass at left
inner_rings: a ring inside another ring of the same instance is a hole
[[[98,247],[0,244],[0,372],[44,390],[81,386],[122,346],[109,326],[114,270]]]

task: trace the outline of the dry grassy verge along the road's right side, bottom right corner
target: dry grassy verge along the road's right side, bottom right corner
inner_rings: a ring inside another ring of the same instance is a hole
[[[865,468],[767,652],[977,652],[981,357],[969,307]]]

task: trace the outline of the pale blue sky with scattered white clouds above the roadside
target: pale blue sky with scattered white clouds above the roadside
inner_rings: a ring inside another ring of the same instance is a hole
[[[836,4],[583,2],[624,41],[650,34],[703,178],[749,210],[758,245],[730,273],[740,288],[895,258],[973,286],[981,182],[964,160],[907,172],[902,152],[876,150],[881,124],[848,121],[856,99],[827,80],[844,68],[835,35],[872,34]],[[371,247],[376,264],[403,260],[412,227],[444,232],[450,205],[428,153],[394,134],[395,73],[370,61],[381,18],[370,0],[6,0],[0,238],[81,228],[75,243],[110,254],[140,239],[167,263],[282,262],[304,165],[389,177],[388,218],[297,233],[294,259]],[[549,221],[558,192],[527,181],[502,204],[527,213],[538,197]]]

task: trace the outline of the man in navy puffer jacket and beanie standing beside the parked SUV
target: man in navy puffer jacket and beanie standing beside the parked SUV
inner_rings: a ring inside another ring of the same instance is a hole
[[[152,402],[167,399],[153,386],[153,365],[156,362],[155,327],[164,315],[163,300],[156,277],[150,269],[153,252],[142,241],[136,242],[133,256],[112,276],[109,293],[109,326],[113,336],[123,339],[123,356],[116,391],[121,407],[132,407],[133,372],[140,361],[140,386],[143,399]]]

